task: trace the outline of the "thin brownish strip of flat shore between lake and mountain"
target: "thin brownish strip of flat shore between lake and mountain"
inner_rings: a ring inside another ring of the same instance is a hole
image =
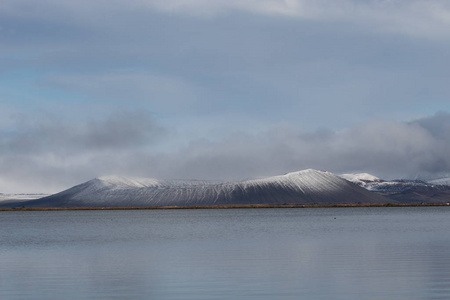
[[[157,210],[157,209],[238,209],[238,208],[337,208],[337,207],[422,207],[449,206],[448,203],[367,203],[367,204],[230,204],[190,206],[115,206],[115,207],[15,207],[0,211],[61,211],[61,210]]]

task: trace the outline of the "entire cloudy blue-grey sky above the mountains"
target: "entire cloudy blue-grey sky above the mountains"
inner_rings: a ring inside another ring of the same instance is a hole
[[[0,193],[450,176],[446,0],[2,0]]]

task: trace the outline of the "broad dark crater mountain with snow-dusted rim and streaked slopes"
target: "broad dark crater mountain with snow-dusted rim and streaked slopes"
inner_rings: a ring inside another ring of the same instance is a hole
[[[356,204],[392,202],[332,173],[304,170],[239,182],[165,181],[108,176],[26,207],[151,207],[245,204]]]

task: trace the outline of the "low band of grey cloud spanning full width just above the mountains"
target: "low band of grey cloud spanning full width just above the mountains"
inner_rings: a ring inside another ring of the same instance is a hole
[[[30,127],[29,127],[30,126]],[[352,128],[305,133],[277,127],[158,151],[174,133],[151,116],[121,113],[80,126],[38,121],[1,142],[0,189],[56,192],[100,175],[239,180],[306,168],[379,177],[450,174],[450,114],[409,123],[371,121]]]

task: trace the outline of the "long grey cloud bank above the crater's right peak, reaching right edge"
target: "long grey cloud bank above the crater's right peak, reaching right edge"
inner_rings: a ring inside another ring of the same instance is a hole
[[[260,135],[237,134],[210,142],[197,141],[181,156],[159,160],[165,177],[253,178],[305,168],[335,173],[370,172],[384,178],[439,177],[450,174],[450,138],[440,127],[423,122],[449,122],[448,114],[411,123],[372,121],[341,131],[304,133],[292,127]],[[156,175],[156,174],[155,174]]]

